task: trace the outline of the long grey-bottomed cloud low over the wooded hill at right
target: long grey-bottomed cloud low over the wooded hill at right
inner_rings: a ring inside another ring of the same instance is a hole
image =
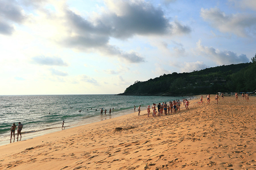
[[[232,51],[227,51],[227,50],[221,51],[218,49],[214,49],[213,47],[205,47],[201,44],[201,40],[199,40],[196,43],[196,45],[197,45],[197,55],[198,54],[202,55],[220,65],[249,62],[249,59],[244,54],[241,54],[240,56],[238,56],[236,53]]]

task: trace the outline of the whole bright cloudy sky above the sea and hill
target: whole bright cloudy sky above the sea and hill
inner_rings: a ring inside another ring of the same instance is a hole
[[[250,62],[255,0],[0,0],[0,95],[118,94]]]

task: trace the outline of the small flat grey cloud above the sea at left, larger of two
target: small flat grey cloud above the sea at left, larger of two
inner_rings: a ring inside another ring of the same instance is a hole
[[[45,57],[45,56],[35,56],[32,57],[32,62],[39,65],[48,65],[48,66],[68,66],[66,62],[59,57]]]

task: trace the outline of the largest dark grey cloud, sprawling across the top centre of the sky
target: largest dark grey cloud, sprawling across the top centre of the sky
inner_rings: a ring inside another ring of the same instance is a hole
[[[110,38],[127,39],[135,35],[182,35],[191,32],[179,21],[170,22],[161,8],[139,1],[105,0],[106,9],[83,18],[65,8],[65,26],[68,35],[60,43],[82,51],[98,51],[103,56],[117,56],[128,62],[145,62],[134,51],[126,52],[109,44]]]

